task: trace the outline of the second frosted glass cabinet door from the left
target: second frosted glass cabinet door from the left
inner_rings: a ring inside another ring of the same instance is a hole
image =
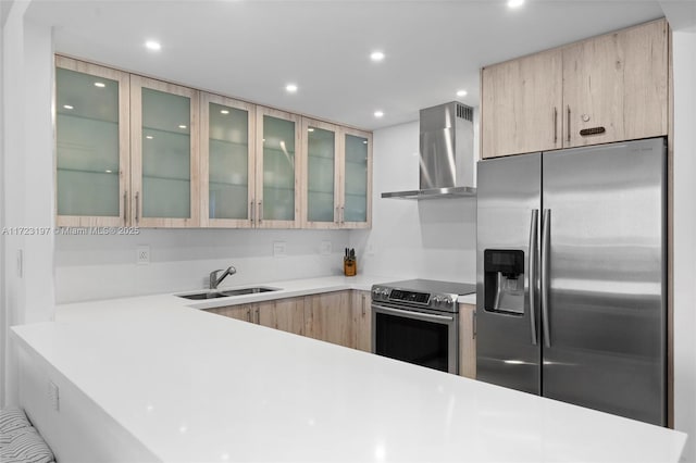
[[[133,223],[199,225],[198,91],[130,77]]]

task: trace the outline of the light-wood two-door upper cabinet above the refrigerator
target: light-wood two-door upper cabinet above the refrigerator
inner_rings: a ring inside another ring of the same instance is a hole
[[[482,70],[482,158],[668,129],[668,24],[657,20]]]

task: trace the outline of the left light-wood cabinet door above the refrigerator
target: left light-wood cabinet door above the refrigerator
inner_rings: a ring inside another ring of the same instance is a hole
[[[482,158],[561,148],[562,52],[482,70]]]

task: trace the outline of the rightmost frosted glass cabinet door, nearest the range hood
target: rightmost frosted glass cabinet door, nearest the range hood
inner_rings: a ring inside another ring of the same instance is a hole
[[[344,128],[343,228],[372,225],[372,134]]]

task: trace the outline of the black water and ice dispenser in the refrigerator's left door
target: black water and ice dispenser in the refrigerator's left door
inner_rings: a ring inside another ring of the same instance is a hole
[[[484,250],[485,310],[524,314],[524,251]]]

